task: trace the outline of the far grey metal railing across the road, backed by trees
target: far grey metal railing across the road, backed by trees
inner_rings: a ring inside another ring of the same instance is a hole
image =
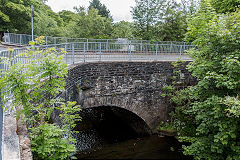
[[[36,36],[34,35],[34,39]],[[71,42],[104,42],[104,43],[138,43],[138,44],[168,44],[168,45],[191,45],[189,42],[177,42],[177,41],[148,41],[148,40],[137,40],[137,39],[88,39],[88,38],[68,38],[68,37],[52,37],[44,36],[45,45],[60,44],[60,43],[71,43]],[[18,45],[29,45],[29,41],[32,40],[31,35],[27,34],[15,34],[15,33],[4,33],[4,42],[7,44],[18,44]]]

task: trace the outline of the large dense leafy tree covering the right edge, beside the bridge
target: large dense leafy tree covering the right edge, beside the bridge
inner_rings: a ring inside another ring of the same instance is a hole
[[[227,8],[227,6],[226,6]],[[240,159],[240,13],[217,14],[210,0],[202,1],[188,21],[189,71],[198,80],[176,92],[173,114],[184,153],[195,159]]]

